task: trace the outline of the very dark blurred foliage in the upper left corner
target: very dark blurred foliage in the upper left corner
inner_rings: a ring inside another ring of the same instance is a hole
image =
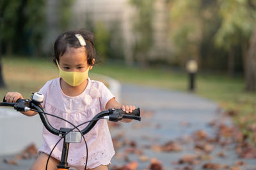
[[[45,1],[2,0],[0,10],[3,51],[8,55],[40,55],[45,34]]]

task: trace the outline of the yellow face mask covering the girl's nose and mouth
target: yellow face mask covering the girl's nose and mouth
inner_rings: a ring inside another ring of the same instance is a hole
[[[60,71],[60,77],[63,78],[63,80],[68,83],[68,85],[71,85],[73,87],[80,85],[81,83],[83,83],[84,80],[88,79],[88,72],[89,72],[89,68],[86,71],[84,71],[83,73],[79,73],[79,72],[71,72],[71,71],[63,71],[59,64],[58,61],[56,60],[59,71]]]

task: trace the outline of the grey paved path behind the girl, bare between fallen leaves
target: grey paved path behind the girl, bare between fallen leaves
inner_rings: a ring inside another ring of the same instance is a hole
[[[122,99],[123,103],[139,106],[141,110],[147,111],[148,115],[144,114],[141,122],[133,121],[131,124],[122,123],[121,127],[113,127],[111,129],[113,138],[117,134],[124,134],[123,138],[135,141],[137,148],[143,148],[143,155],[150,159],[155,157],[157,160],[161,160],[166,170],[176,169],[177,166],[173,165],[172,162],[180,159],[182,155],[193,153],[193,146],[182,146],[183,150],[175,153],[156,152],[156,150],[154,151],[146,146],[163,145],[170,140],[191,135],[201,129],[204,129],[208,134],[212,134],[214,131],[208,126],[208,123],[220,118],[220,115],[216,113],[218,106],[215,103],[185,92],[122,85]],[[116,153],[119,154],[120,152],[122,152],[122,148]],[[237,156],[233,150],[230,150],[229,154],[232,156],[225,160],[216,159],[216,161],[234,164],[238,160]],[[8,158],[8,156],[1,156],[0,159],[3,160],[4,157]],[[138,161],[138,159],[138,155],[130,154],[125,159],[115,157],[112,163],[123,165],[126,163],[125,160]],[[253,161],[255,162],[255,160],[248,160],[248,164],[253,164]],[[33,160],[20,160],[19,166],[9,166],[1,161],[0,169],[28,169],[32,162]],[[139,161],[138,170],[146,169],[148,164],[148,161]],[[202,167],[202,164],[195,166],[195,169],[201,169],[200,167]]]

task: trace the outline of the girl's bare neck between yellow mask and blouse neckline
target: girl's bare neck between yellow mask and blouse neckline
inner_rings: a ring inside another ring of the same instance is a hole
[[[63,93],[67,96],[74,97],[81,94],[87,87],[88,80],[83,81],[80,85],[77,85],[76,87],[68,85],[62,78],[60,78],[60,87]]]

